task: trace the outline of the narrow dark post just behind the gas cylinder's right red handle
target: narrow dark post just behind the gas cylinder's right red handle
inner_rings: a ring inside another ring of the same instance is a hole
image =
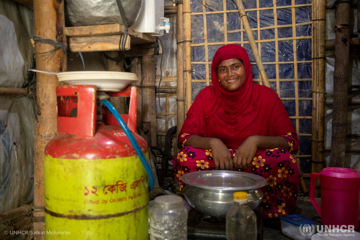
[[[141,57],[136,57],[131,60],[130,72],[135,73],[138,77],[138,81],[131,83],[131,86],[140,86],[141,80],[143,79],[141,73]],[[138,87],[136,91],[136,126],[143,130],[143,94],[140,87]]]

